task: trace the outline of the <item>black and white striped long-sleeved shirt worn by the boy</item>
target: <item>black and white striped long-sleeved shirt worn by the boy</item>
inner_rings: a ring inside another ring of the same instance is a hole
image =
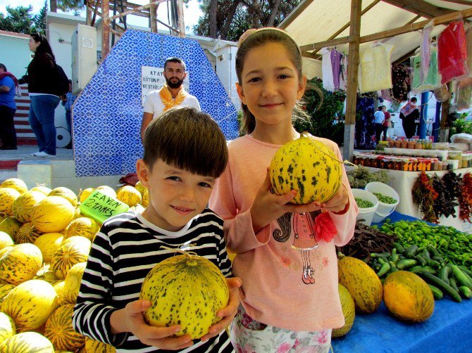
[[[75,304],[74,329],[116,346],[117,352],[168,352],[144,345],[131,333],[113,335],[110,326],[113,311],[139,299],[149,271],[175,255],[162,245],[196,252],[216,264],[225,277],[231,276],[223,220],[211,210],[204,210],[176,232],[160,229],[141,214],[119,214],[104,222],[92,244]],[[206,342],[194,342],[180,352],[234,352],[225,330]]]

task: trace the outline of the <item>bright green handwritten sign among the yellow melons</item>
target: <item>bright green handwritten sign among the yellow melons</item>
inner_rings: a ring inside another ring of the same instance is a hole
[[[105,195],[99,190],[95,190],[80,204],[80,212],[100,223],[129,209],[130,207],[125,203]]]

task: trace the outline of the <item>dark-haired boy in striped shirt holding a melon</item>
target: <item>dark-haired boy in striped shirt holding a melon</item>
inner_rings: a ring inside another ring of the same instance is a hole
[[[168,248],[190,250],[211,260],[225,277],[231,264],[223,220],[206,208],[215,179],[225,169],[225,137],[209,115],[174,108],[154,119],[144,135],[137,175],[149,191],[149,206],[104,222],[90,250],[73,314],[77,332],[117,347],[117,352],[233,352],[225,331],[239,305],[239,278],[228,278],[230,302],[223,319],[198,342],[173,338],[180,326],[153,327],[143,319],[150,307],[138,300],[144,277],[172,257]],[[154,346],[155,349],[152,349]]]

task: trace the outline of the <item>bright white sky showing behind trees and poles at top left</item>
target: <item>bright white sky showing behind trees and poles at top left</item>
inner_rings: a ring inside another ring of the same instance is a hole
[[[47,2],[48,2],[48,7],[49,7],[49,0]],[[113,8],[113,0],[109,0],[109,2],[110,2],[110,8]],[[132,4],[139,4],[139,5],[149,4],[149,0],[130,0],[130,2]],[[167,22],[167,4],[168,3],[165,2],[159,5],[158,18],[163,23],[168,23]],[[41,8],[44,6],[44,0],[26,0],[26,1],[21,1],[21,3],[18,0],[0,0],[0,12],[6,15],[6,6],[11,6],[15,8],[19,5],[21,6],[32,5],[33,6],[32,13],[35,15],[39,13]],[[58,12],[61,13],[62,11],[58,10]],[[73,15],[72,12],[68,14]],[[187,34],[193,34],[192,27],[197,24],[198,19],[201,15],[202,13],[199,8],[199,3],[197,0],[190,0],[188,8],[184,6],[185,32]],[[85,18],[85,11],[82,11],[81,16]],[[135,15],[128,15],[127,21],[128,21],[128,24],[130,25],[137,25],[137,26],[142,26],[142,27],[147,27],[147,24],[148,24],[147,18],[142,18]],[[157,27],[161,30],[166,29],[166,27],[164,27],[163,25],[159,23],[157,24]]]

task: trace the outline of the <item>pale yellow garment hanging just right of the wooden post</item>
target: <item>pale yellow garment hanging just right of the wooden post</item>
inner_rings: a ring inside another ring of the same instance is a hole
[[[375,44],[361,49],[359,53],[359,92],[392,88],[390,56],[393,47],[390,44]]]

